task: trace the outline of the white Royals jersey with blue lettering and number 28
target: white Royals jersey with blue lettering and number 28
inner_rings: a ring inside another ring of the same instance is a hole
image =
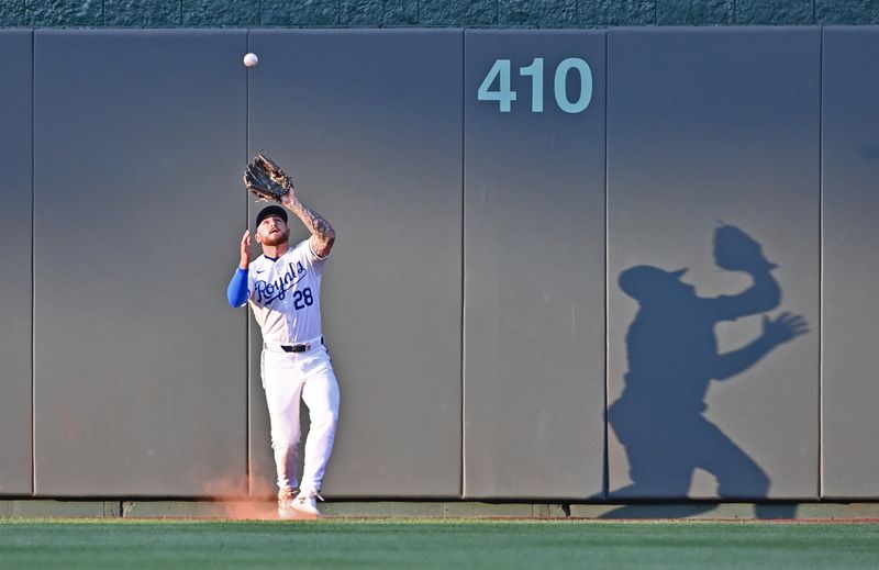
[[[326,258],[305,239],[277,259],[260,255],[247,272],[247,294],[263,342],[293,345],[321,336],[321,277]]]

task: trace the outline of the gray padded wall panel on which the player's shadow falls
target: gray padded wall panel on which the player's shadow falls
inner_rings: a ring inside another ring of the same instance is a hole
[[[610,410],[612,499],[817,496],[820,49],[817,29],[609,32],[610,403],[633,361],[650,370]],[[653,309],[627,351],[638,304],[619,280],[636,265],[689,268],[704,298],[744,291],[749,278],[712,258],[721,221],[779,265],[780,304],[735,311],[790,311],[812,331],[705,385],[712,331],[727,353],[761,335],[761,317],[712,326],[715,304],[676,304],[669,276],[628,273]]]

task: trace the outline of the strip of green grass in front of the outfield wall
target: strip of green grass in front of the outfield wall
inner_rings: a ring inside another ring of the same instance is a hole
[[[879,525],[0,519],[0,569],[877,568]]]

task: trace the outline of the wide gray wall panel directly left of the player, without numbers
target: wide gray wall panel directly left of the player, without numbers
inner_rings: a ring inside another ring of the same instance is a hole
[[[36,32],[40,495],[243,488],[245,38]]]

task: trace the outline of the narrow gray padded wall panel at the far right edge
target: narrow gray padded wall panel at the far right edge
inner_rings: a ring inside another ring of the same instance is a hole
[[[824,30],[822,494],[879,496],[879,29]]]

